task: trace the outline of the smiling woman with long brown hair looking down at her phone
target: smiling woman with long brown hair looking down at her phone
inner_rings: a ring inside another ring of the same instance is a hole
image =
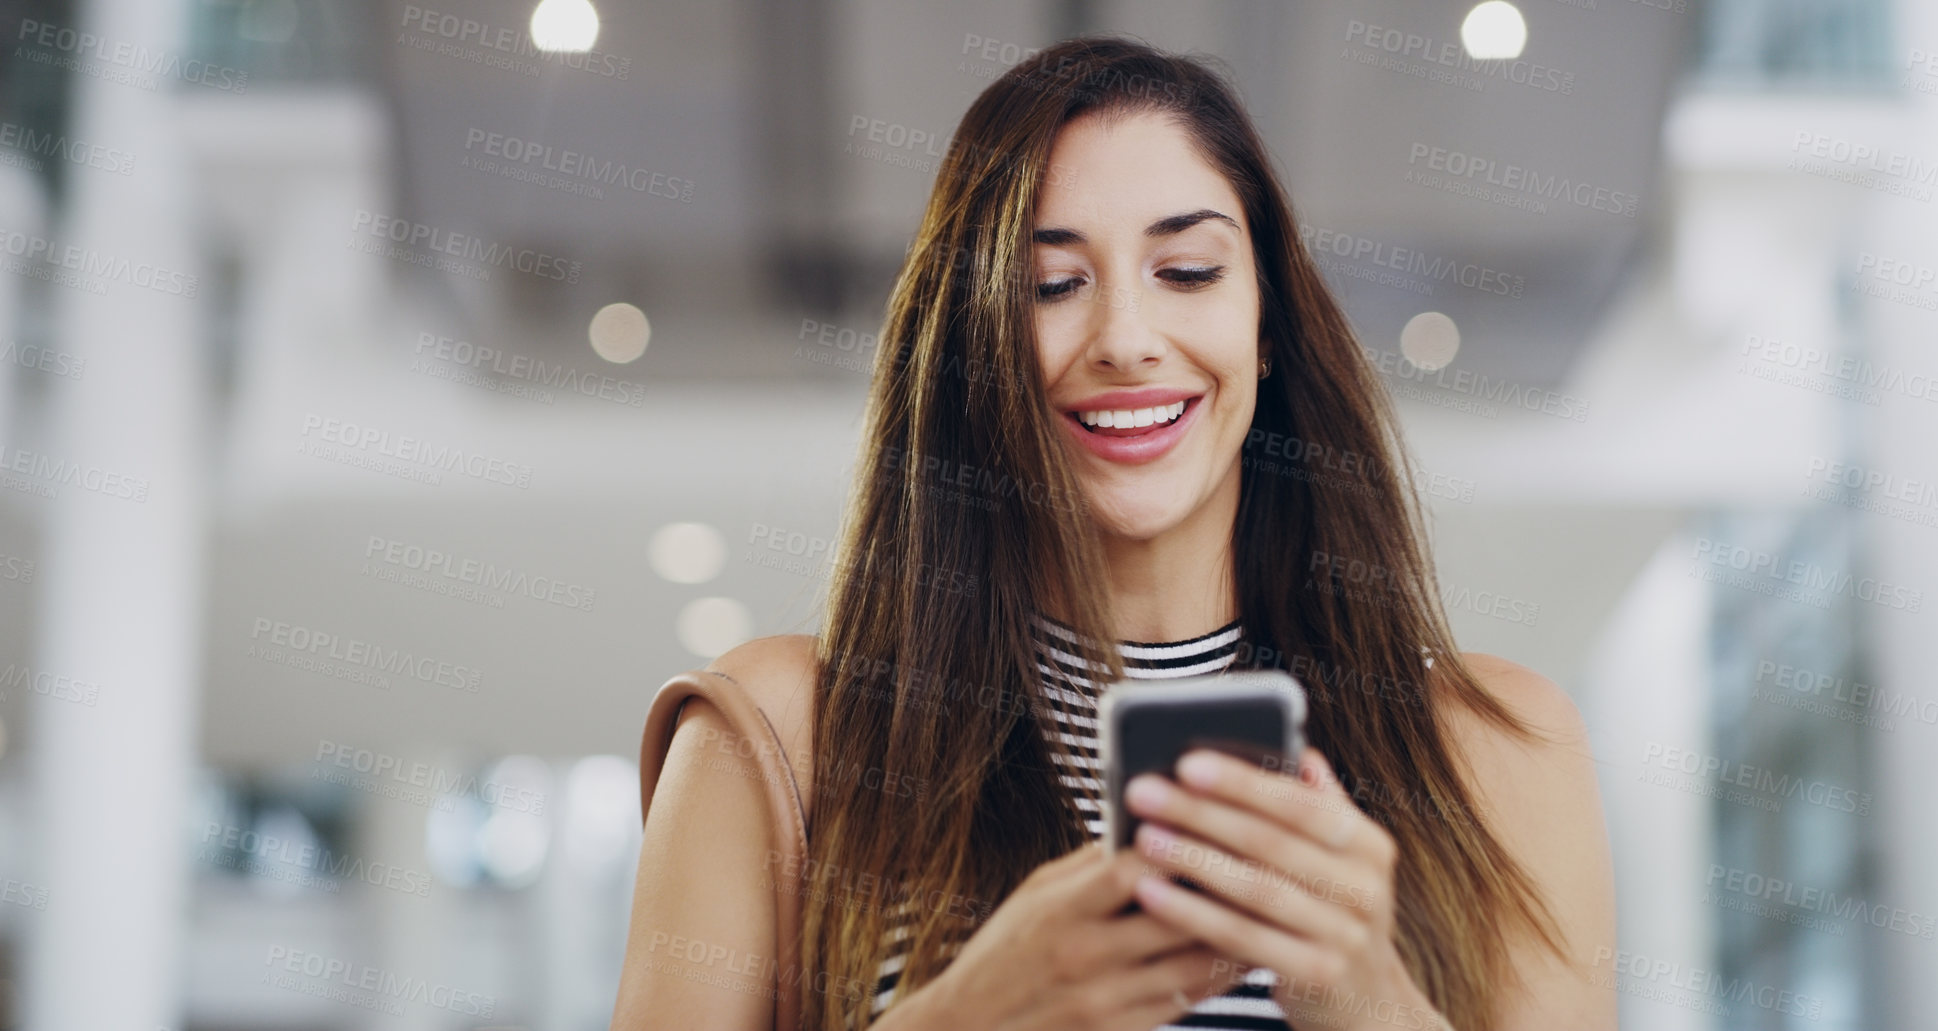
[[[1066,41],[963,116],[824,630],[709,667],[802,779],[804,1027],[1614,1025],[1579,715],[1454,649],[1382,386],[1295,227],[1198,62]],[[1145,831],[1105,857],[1097,686],[1273,665],[1310,700],[1300,775],[1188,754],[1134,781]],[[775,953],[723,727],[702,702],[674,733],[614,1027],[771,1021],[655,944]]]

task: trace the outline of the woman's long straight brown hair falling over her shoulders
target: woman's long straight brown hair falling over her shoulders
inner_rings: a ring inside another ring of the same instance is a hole
[[[890,909],[897,994],[932,979],[1037,864],[1087,841],[1041,733],[1031,614],[1122,674],[1103,545],[1035,357],[1031,227],[1056,132],[1167,112],[1244,203],[1273,374],[1233,525],[1240,665],[1291,667],[1308,740],[1399,843],[1397,948],[1455,1027],[1512,981],[1504,932],[1560,950],[1527,874],[1477,820],[1444,705],[1529,733],[1459,663],[1386,391],[1298,242],[1235,89],[1130,39],[1070,39],[963,114],[895,281],[818,636],[802,965],[808,1031],[860,1027]],[[1289,442],[1289,444],[1287,444]],[[1316,461],[1324,459],[1324,461]],[[1318,469],[1351,469],[1349,475]]]

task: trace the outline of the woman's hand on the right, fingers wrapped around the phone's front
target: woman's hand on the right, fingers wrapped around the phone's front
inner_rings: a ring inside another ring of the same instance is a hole
[[[1295,777],[1198,748],[1178,760],[1178,783],[1132,779],[1138,853],[1207,890],[1145,878],[1138,901],[1233,961],[1275,971],[1273,998],[1295,1025],[1446,1027],[1393,946],[1393,835],[1316,750],[1298,767]]]

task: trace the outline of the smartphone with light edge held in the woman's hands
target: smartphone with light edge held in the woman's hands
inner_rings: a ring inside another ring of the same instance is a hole
[[[1124,806],[1138,773],[1176,779],[1178,756],[1215,748],[1271,771],[1298,773],[1306,692],[1285,671],[1240,671],[1178,680],[1118,680],[1097,703],[1105,771],[1105,841],[1132,847],[1140,820]]]

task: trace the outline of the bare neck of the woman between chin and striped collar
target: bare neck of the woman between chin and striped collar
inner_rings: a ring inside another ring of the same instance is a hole
[[[1118,640],[1182,641],[1238,618],[1231,548],[1236,517],[1238,477],[1233,475],[1184,521],[1157,537],[1105,535]]]

